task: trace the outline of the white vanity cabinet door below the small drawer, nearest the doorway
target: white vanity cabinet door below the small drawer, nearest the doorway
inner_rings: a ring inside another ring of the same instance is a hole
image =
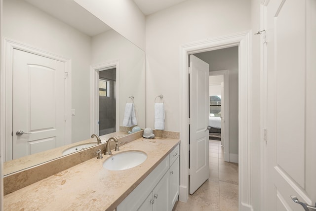
[[[179,157],[170,167],[170,210],[173,209],[174,204],[178,201],[179,196]]]

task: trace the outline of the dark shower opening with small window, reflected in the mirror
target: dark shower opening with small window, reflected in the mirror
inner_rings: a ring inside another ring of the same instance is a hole
[[[99,72],[99,135],[116,131],[116,68]]]

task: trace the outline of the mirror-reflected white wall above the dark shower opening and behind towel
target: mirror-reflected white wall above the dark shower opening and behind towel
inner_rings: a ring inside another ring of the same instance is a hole
[[[119,125],[124,118],[128,96],[134,96],[135,113],[139,127],[145,127],[145,52],[114,30],[92,37],[91,64],[119,60]]]

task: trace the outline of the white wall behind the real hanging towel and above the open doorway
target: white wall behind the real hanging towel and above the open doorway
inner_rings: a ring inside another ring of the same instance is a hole
[[[187,0],[146,17],[146,127],[163,94],[165,130],[180,130],[179,49],[182,44],[250,29],[250,0]]]

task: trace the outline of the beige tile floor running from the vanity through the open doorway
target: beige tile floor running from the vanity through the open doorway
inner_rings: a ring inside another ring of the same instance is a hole
[[[173,210],[238,211],[238,164],[224,161],[220,141],[209,141],[209,179]]]

